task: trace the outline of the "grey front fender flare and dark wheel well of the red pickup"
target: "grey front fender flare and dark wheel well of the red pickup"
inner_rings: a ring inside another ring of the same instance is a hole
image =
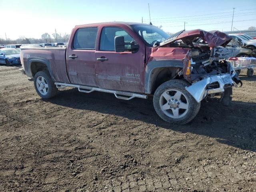
[[[160,84],[175,79],[182,68],[182,60],[153,60],[148,62],[145,73],[145,93],[153,94]]]

